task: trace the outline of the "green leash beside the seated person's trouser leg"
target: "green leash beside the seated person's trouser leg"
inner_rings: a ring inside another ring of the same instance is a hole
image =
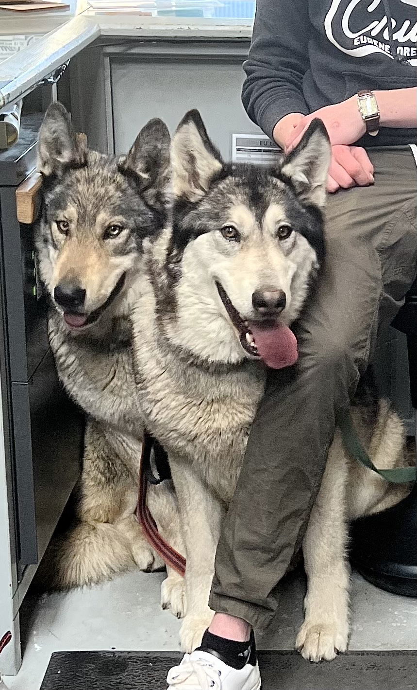
[[[391,470],[378,470],[361,444],[349,410],[339,410],[336,415],[336,423],[342,434],[345,449],[368,469],[376,472],[391,484],[408,484],[416,481],[416,467],[396,467]]]

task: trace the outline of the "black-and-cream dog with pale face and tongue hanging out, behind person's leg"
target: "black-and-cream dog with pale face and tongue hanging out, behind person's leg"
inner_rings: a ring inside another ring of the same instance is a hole
[[[225,164],[192,111],[171,155],[172,224],[150,250],[132,324],[141,414],[168,453],[179,501],[187,558],[181,644],[191,651],[212,620],[216,545],[264,392],[265,362],[296,359],[288,326],[325,253],[331,152],[316,120],[275,168]],[[372,424],[367,411],[355,420],[377,465],[403,463],[403,426],[386,402]],[[308,591],[296,645],[305,658],[332,659],[347,648],[347,520],[406,491],[352,466],[336,433],[303,543]]]

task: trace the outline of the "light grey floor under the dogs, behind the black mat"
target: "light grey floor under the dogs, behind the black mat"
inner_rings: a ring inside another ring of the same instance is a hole
[[[26,598],[21,611],[21,671],[5,678],[8,690],[39,690],[54,651],[179,649],[180,622],[159,607],[163,573],[128,573],[102,586]],[[283,587],[279,615],[259,647],[292,649],[303,614],[305,582]],[[416,649],[417,600],[376,589],[354,575],[350,649]],[[306,662],[307,663],[307,662]]]

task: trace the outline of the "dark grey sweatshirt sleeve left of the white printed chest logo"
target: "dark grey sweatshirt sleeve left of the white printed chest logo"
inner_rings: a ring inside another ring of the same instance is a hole
[[[307,0],[257,0],[242,101],[250,119],[271,139],[282,117],[309,112],[303,97],[309,28]]]

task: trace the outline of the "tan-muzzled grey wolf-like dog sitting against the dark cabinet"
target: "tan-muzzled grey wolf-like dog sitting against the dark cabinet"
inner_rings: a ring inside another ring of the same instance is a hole
[[[36,245],[50,344],[61,381],[88,415],[78,524],[52,542],[45,559],[48,584],[68,588],[135,566],[163,566],[134,518],[142,427],[128,316],[143,241],[153,242],[166,225],[170,135],[161,120],[151,120],[127,156],[111,158],[88,150],[54,103],[41,126],[38,168]],[[152,487],[150,504],[177,543],[175,497],[166,482]],[[172,603],[177,615],[182,589],[179,576],[165,583],[163,604]]]

